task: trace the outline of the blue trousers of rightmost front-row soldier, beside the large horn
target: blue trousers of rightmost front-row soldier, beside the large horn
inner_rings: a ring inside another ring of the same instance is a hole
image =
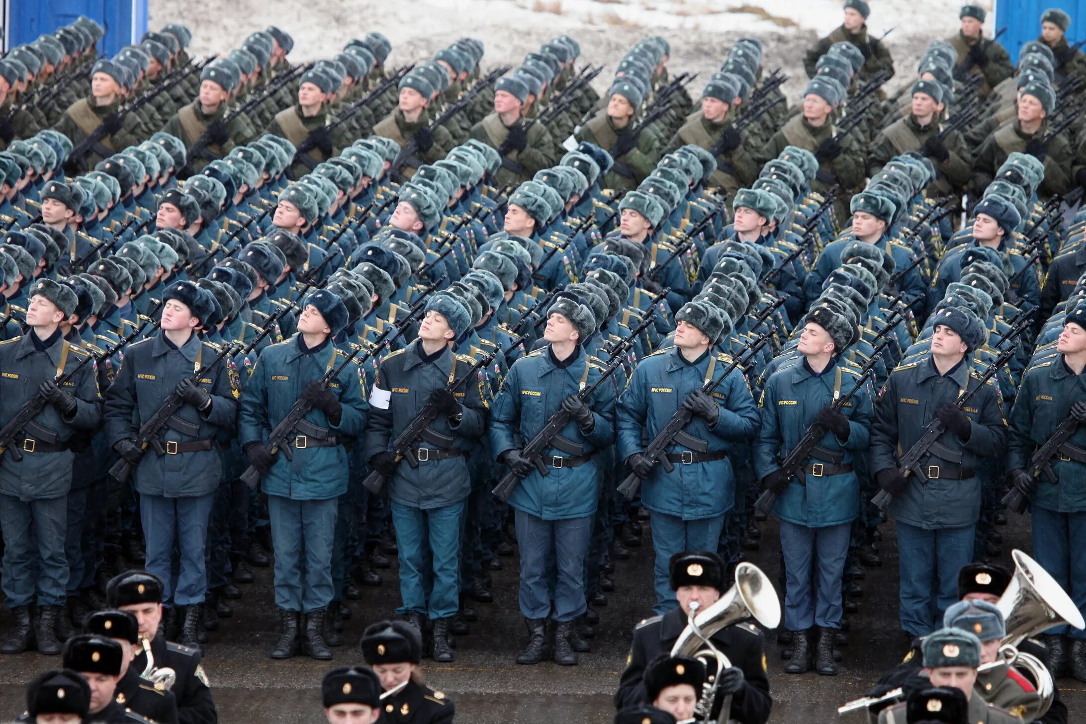
[[[1086,512],[1056,512],[1033,506],[1033,551],[1078,611],[1086,613]],[[1045,633],[1086,639],[1086,631],[1066,624]]]

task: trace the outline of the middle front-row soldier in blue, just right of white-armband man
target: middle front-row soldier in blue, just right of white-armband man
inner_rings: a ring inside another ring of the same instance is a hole
[[[588,402],[577,396],[602,373],[602,366],[581,345],[596,327],[589,307],[571,294],[557,295],[547,310],[543,333],[547,345],[514,363],[494,399],[492,452],[523,477],[509,498],[520,546],[520,613],[529,632],[518,663],[539,663],[547,657],[548,614],[557,623],[556,662],[576,664],[574,645],[589,650],[576,622],[585,611],[584,560],[598,497],[599,470],[593,454],[615,441],[616,397],[610,383],[602,384]],[[569,422],[540,459],[547,470],[544,477],[521,449],[559,409],[569,415]],[[557,569],[553,606],[547,585],[552,562]]]

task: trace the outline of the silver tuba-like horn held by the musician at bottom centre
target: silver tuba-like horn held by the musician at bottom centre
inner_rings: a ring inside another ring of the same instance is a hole
[[[698,612],[698,608],[696,602],[691,604],[686,627],[671,647],[671,656],[698,659],[710,672],[698,697],[693,720],[709,724],[717,698],[717,679],[724,669],[732,665],[728,657],[709,639],[721,628],[752,617],[766,628],[775,628],[781,623],[781,602],[773,584],[757,566],[740,563],[735,568],[735,584],[716,604],[702,612]],[[714,665],[710,666],[710,663]],[[718,724],[728,720],[731,708],[729,696],[720,707],[720,714],[716,720]]]

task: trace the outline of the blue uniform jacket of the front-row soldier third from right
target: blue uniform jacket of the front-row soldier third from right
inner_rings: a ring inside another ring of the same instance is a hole
[[[851,391],[858,378],[859,370],[842,359],[816,376],[806,357],[786,363],[770,376],[758,402],[761,432],[754,445],[758,480],[781,468],[781,460],[799,444],[819,410]],[[860,482],[851,468],[868,448],[871,397],[871,385],[866,382],[842,406],[848,418],[848,439],[841,442],[829,431],[822,435],[805,463],[804,480],[793,478],[776,497],[773,512],[778,518],[796,525],[825,528],[850,522],[859,515]]]

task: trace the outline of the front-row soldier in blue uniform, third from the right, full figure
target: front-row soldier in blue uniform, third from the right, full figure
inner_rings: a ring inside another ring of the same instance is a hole
[[[773,512],[781,519],[781,550],[787,581],[784,625],[796,632],[792,659],[784,671],[801,674],[811,661],[818,673],[836,675],[834,637],[841,630],[842,576],[851,523],[859,515],[860,482],[853,462],[867,450],[872,409],[864,384],[837,408],[832,401],[848,392],[858,377],[842,352],[859,330],[828,305],[807,314],[796,351],[801,359],[770,376],[761,393],[761,432],[755,444],[755,471],[762,487],[778,496]],[[812,462],[799,477],[788,478],[780,460],[805,436],[808,428],[824,430]],[[812,552],[815,556],[812,557]],[[812,590],[811,563],[818,587]],[[811,626],[819,626],[812,656]]]

